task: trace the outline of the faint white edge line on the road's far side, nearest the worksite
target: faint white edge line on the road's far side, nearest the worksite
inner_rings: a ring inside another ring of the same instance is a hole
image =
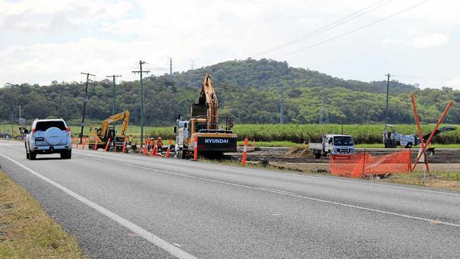
[[[117,153],[115,153],[117,154]],[[78,156],[78,155],[77,155]],[[88,156],[85,156],[88,157]],[[140,159],[143,159],[143,156],[139,156]],[[145,158],[144,158],[145,159]],[[224,167],[224,168],[232,168],[232,169],[241,169],[236,166],[225,166],[225,165],[217,165],[217,164],[212,164],[212,163],[206,163],[207,165],[212,165],[212,166],[219,166],[219,167]],[[255,169],[255,168],[244,168],[247,171],[256,171],[256,172],[261,172],[261,173],[272,173],[276,175],[292,175],[292,176],[301,176],[305,178],[312,178],[312,179],[321,179],[321,180],[333,180],[336,182],[345,182],[345,183],[355,183],[355,184],[360,184],[360,185],[373,185],[373,186],[380,186],[380,187],[385,187],[385,188],[395,188],[395,189],[402,189],[402,190],[412,190],[412,191],[417,191],[417,192],[432,192],[432,193],[438,193],[442,195],[457,195],[460,196],[460,193],[455,193],[455,192],[442,192],[438,190],[423,190],[423,189],[417,189],[417,188],[409,188],[409,187],[403,187],[403,186],[395,186],[395,185],[384,185],[380,183],[366,183],[360,180],[346,180],[346,179],[337,179],[337,178],[328,178],[328,177],[322,177],[322,176],[314,176],[314,175],[301,175],[298,173],[286,173],[286,172],[280,172],[280,171],[269,171],[269,170],[260,170],[260,169]],[[288,176],[289,177],[289,176]]]

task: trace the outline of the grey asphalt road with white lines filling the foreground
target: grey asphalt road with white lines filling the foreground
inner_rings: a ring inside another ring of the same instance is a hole
[[[93,258],[460,256],[460,193],[18,142],[0,165]]]

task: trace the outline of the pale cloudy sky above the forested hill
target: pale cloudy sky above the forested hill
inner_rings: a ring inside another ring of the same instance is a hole
[[[421,2],[0,0],[0,87],[84,81],[81,72],[131,81],[139,60],[160,75],[170,58],[173,71],[187,71],[252,57],[342,79],[391,74],[460,89],[460,1]]]

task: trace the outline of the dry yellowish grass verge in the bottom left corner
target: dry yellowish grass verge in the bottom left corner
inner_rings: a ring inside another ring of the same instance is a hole
[[[86,258],[74,236],[0,171],[0,258]]]

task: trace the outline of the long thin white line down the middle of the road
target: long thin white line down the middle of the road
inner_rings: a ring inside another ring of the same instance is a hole
[[[88,158],[88,157],[86,157],[86,158],[87,159],[93,159],[93,158]],[[136,166],[136,165],[132,165],[130,163],[120,163],[120,162],[110,161],[110,160],[105,160],[105,159],[93,159],[93,160],[105,161],[105,162],[108,162],[108,163],[117,163],[117,164],[123,165],[123,166],[129,166],[129,167],[144,169],[144,170],[148,170],[148,171],[154,171],[154,172],[158,172],[158,173],[166,173],[166,174],[170,174],[170,175],[180,175],[180,176],[187,177],[187,178],[193,178],[193,179],[199,179],[199,180],[207,180],[207,181],[212,182],[212,183],[221,183],[223,185],[231,185],[231,186],[247,188],[247,189],[251,189],[251,190],[261,190],[261,191],[264,191],[264,192],[272,192],[272,193],[277,193],[277,194],[280,194],[280,195],[287,195],[287,196],[297,197],[297,198],[301,198],[301,199],[305,199],[305,200],[313,200],[315,202],[323,202],[323,203],[328,203],[328,204],[332,204],[332,205],[339,205],[339,206],[342,206],[342,207],[350,207],[350,208],[354,208],[354,209],[366,210],[366,211],[369,211],[369,212],[378,212],[378,213],[381,213],[381,214],[388,214],[388,215],[393,215],[393,216],[397,216],[397,217],[403,217],[403,218],[406,218],[406,219],[418,219],[418,220],[427,221],[427,222],[437,221],[436,219],[426,219],[426,218],[422,218],[422,217],[415,217],[415,216],[410,216],[410,215],[406,215],[406,214],[400,214],[400,213],[396,213],[396,212],[386,212],[386,211],[381,210],[381,209],[372,209],[372,208],[362,207],[362,206],[357,206],[357,205],[349,205],[347,203],[342,203],[342,202],[333,202],[333,201],[330,201],[330,200],[323,200],[323,199],[318,199],[318,198],[314,198],[314,197],[302,196],[302,195],[297,195],[297,194],[289,194],[287,192],[281,192],[281,191],[278,191],[278,190],[268,190],[268,189],[265,189],[265,188],[252,187],[252,186],[248,186],[248,185],[241,185],[241,184],[238,184],[238,183],[224,182],[222,180],[213,180],[213,179],[203,178],[203,177],[193,176],[193,175],[184,176],[184,175],[174,173],[174,172],[162,171],[162,170],[158,170],[158,169],[154,169],[154,168],[148,168],[148,167],[145,167],[145,166]],[[444,222],[444,221],[437,221],[437,222],[439,222],[439,224],[444,224],[444,225],[448,225],[448,226],[460,227],[460,224],[454,224],[454,223],[449,223],[449,222]]]

